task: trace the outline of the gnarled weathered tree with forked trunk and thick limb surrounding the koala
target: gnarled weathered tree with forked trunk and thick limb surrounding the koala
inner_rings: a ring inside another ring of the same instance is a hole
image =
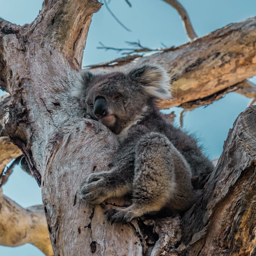
[[[100,6],[95,0],[47,0],[31,24],[0,20],[0,86],[10,94],[2,135],[21,149],[41,186],[54,255],[254,255],[255,106],[236,120],[202,198],[184,216],[111,226],[103,212],[129,199],[96,206],[79,199],[87,175],[108,170],[118,150],[115,136],[88,119],[71,95]],[[255,28],[254,17],[150,57],[94,69],[162,64],[176,81],[176,98],[162,106],[203,101],[256,75]],[[39,242],[34,244],[42,249]]]

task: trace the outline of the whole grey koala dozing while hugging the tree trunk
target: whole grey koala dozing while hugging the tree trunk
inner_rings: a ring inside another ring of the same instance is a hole
[[[112,224],[145,214],[184,212],[200,195],[198,180],[213,170],[196,140],[159,112],[157,100],[171,97],[169,82],[168,73],[153,64],[127,73],[80,73],[81,104],[120,143],[113,167],[90,174],[81,197],[100,204],[110,197],[132,195],[129,207],[109,212]]]

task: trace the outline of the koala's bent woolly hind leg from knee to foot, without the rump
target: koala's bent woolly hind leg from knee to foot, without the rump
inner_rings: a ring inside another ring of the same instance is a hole
[[[177,160],[182,168],[184,158],[172,143],[159,133],[144,135],[138,142],[135,152],[135,173],[133,180],[132,205],[116,210],[112,223],[133,218],[149,212],[160,211],[174,200],[176,191],[175,165]]]

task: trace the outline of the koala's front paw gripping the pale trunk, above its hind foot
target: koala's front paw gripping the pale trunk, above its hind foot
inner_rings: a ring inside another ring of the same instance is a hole
[[[104,172],[92,173],[88,176],[87,184],[81,189],[82,199],[92,203],[99,204],[108,199],[110,186],[107,180],[107,174]]]

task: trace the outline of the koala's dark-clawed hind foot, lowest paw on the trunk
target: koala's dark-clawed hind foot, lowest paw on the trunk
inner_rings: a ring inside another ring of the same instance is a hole
[[[111,225],[113,225],[114,222],[121,222],[123,221],[123,224],[127,224],[130,222],[134,215],[131,211],[127,211],[126,209],[112,209],[110,208],[105,212],[107,215],[108,220],[111,220]]]

